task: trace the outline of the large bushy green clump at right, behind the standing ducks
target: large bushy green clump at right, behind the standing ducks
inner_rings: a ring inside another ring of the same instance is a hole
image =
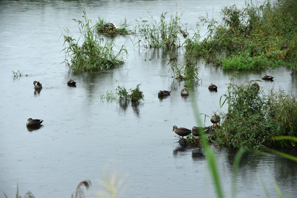
[[[284,90],[266,94],[252,83],[229,84],[228,113],[212,138],[230,148],[295,147],[293,141],[272,137],[297,136],[297,96]]]

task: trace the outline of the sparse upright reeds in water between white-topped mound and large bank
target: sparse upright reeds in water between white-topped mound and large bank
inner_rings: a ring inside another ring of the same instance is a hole
[[[183,11],[181,10],[179,15],[178,11],[176,11],[175,15],[172,13],[169,21],[165,19],[167,13],[161,14],[159,22],[154,20],[152,15],[150,15],[151,22],[147,20],[140,22],[141,18],[136,20],[138,25],[135,30],[140,32],[140,38],[138,39],[145,47],[162,47],[163,51],[181,47],[179,35],[181,35],[181,38],[188,36],[187,30],[183,30],[183,25],[180,23]]]

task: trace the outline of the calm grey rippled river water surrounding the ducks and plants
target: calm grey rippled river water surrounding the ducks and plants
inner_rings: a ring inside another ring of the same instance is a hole
[[[197,16],[217,11],[234,1],[179,1],[186,11],[183,23],[196,25]],[[149,10],[158,19],[170,12],[174,1],[83,1],[93,22],[98,15],[118,24],[127,17],[143,20]],[[243,5],[244,1],[237,2]],[[74,35],[77,25],[71,20],[82,16],[77,1],[1,1],[0,2],[0,187],[8,197],[16,192],[31,191],[35,197],[70,197],[76,185],[90,179],[93,189],[100,189],[103,169],[128,174],[126,197],[214,197],[203,151],[181,148],[172,126],[192,128],[197,125],[189,98],[181,97],[184,82],[168,73],[162,50],[133,46],[127,36],[116,42],[125,43],[129,53],[126,63],[107,71],[69,71],[65,64],[63,41],[58,27],[67,27]],[[134,23],[134,22],[133,22]],[[219,108],[219,98],[232,72],[222,71],[200,61],[199,82],[194,88],[200,113],[210,115]],[[14,78],[11,71],[28,76]],[[274,82],[260,82],[296,91],[296,76],[290,68],[268,71],[242,71],[236,81],[274,76]],[[77,87],[68,87],[69,79]],[[43,89],[34,90],[33,81]],[[141,83],[145,100],[121,103],[100,100],[100,94],[116,87],[134,88]],[[209,92],[208,84],[217,92]],[[169,97],[159,99],[159,90],[171,90]],[[223,107],[224,108],[224,107]],[[225,107],[226,108],[226,107]],[[27,129],[28,118],[43,119],[42,126]],[[204,123],[200,123],[203,125]],[[210,125],[209,119],[205,123]],[[236,151],[213,148],[217,154],[222,185],[231,194],[232,163]],[[296,151],[289,150],[296,155]],[[262,177],[271,197],[277,197],[273,181],[283,193],[297,197],[296,163],[273,154],[245,154],[238,173],[238,197],[263,197]],[[94,197],[93,191],[86,192]],[[3,197],[3,196],[2,196]]]

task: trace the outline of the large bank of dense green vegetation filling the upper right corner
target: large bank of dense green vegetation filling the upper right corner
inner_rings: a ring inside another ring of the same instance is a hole
[[[187,39],[187,53],[204,56],[223,69],[263,69],[296,62],[296,1],[247,1],[244,8],[231,5],[220,14],[221,21],[200,17],[201,24],[208,25],[208,33],[202,41],[199,31]]]

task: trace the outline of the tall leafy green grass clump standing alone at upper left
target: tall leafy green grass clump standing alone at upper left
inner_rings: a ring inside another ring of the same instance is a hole
[[[62,32],[61,36],[64,37],[65,46],[64,62],[67,62],[70,68],[78,70],[106,69],[123,64],[124,54],[127,55],[124,45],[119,49],[113,43],[113,39],[104,42],[104,39],[94,32],[95,28],[91,20],[87,18],[85,10],[83,14],[83,21],[73,19],[77,22],[80,31],[78,40],[75,40],[67,28],[67,30],[64,29],[66,34]],[[80,39],[82,39],[81,46]],[[119,49],[118,52],[115,51],[116,48]]]

